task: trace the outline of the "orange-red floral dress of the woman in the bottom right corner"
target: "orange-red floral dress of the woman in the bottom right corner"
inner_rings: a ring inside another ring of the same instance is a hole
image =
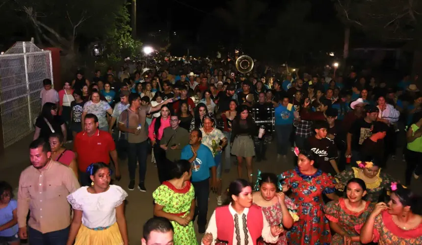
[[[356,227],[356,230],[360,232],[362,226]],[[403,230],[388,211],[383,211],[375,218],[373,237],[373,242],[378,245],[422,245],[422,223],[413,229]]]

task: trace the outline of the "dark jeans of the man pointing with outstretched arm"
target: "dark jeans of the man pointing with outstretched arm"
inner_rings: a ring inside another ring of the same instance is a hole
[[[145,140],[140,143],[128,144],[128,169],[129,179],[135,180],[136,162],[139,163],[139,182],[145,181],[145,174],[147,172],[147,156],[149,144]]]

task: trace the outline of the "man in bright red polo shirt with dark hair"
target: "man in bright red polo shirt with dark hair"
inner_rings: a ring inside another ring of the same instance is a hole
[[[98,118],[94,114],[86,114],[84,131],[76,135],[73,151],[77,153],[81,186],[91,185],[91,179],[89,173],[86,173],[86,168],[91,163],[104,162],[110,164],[110,156],[116,169],[116,179],[120,180],[120,168],[113,137],[108,132],[98,129]]]

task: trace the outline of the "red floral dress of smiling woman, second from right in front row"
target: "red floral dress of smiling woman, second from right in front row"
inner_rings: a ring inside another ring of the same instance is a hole
[[[348,236],[359,236],[355,227],[365,223],[374,208],[374,204],[367,201],[364,210],[353,212],[346,207],[344,200],[340,198],[339,200],[330,201],[325,204],[325,217],[332,222],[336,222]],[[343,237],[336,233],[331,240],[331,245],[344,245]],[[351,245],[361,245],[361,243],[352,242]]]

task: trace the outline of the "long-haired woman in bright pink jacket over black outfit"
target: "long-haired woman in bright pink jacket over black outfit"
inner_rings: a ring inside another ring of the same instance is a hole
[[[157,171],[159,182],[162,183],[168,180],[167,159],[165,157],[165,150],[161,147],[160,140],[162,138],[163,130],[170,126],[170,107],[162,105],[160,109],[161,115],[154,118],[148,127],[148,137],[151,140],[151,145],[154,147],[154,156],[157,161]],[[165,145],[163,145],[165,147]]]

